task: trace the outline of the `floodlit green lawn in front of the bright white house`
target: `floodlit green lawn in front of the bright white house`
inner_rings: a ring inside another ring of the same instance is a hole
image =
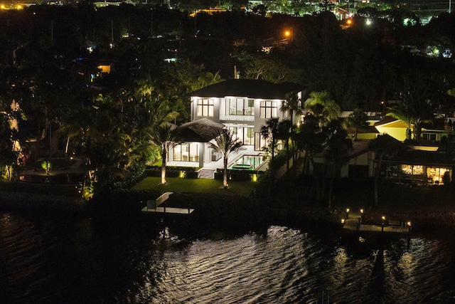
[[[249,196],[255,188],[254,182],[229,182],[229,188],[223,189],[223,182],[216,179],[180,179],[166,178],[167,184],[160,184],[159,177],[146,177],[132,190],[156,190],[159,192],[213,193],[231,196]]]

